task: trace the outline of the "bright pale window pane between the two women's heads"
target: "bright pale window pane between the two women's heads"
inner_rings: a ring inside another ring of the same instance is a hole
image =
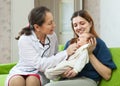
[[[59,35],[60,44],[65,44],[74,34],[71,28],[71,16],[74,12],[74,0],[61,0],[59,3]]]

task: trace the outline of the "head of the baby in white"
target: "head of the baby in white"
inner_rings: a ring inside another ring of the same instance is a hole
[[[94,36],[91,33],[83,33],[79,36],[77,39],[78,46],[82,46],[84,44],[89,43],[90,38],[93,38]]]

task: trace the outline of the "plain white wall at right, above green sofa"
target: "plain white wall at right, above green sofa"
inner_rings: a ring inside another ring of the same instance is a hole
[[[120,47],[120,0],[101,0],[100,37],[108,47]]]

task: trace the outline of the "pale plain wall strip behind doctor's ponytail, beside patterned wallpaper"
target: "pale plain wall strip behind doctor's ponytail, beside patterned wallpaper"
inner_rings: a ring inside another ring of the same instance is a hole
[[[34,7],[34,0],[11,0],[11,62],[18,59],[15,37],[28,24],[28,14]]]

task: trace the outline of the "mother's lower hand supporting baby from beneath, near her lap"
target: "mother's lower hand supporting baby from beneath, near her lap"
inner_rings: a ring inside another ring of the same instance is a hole
[[[67,71],[65,71],[63,74],[62,74],[62,77],[64,78],[73,78],[77,75],[78,73],[76,73],[73,68],[71,67],[68,67]]]

